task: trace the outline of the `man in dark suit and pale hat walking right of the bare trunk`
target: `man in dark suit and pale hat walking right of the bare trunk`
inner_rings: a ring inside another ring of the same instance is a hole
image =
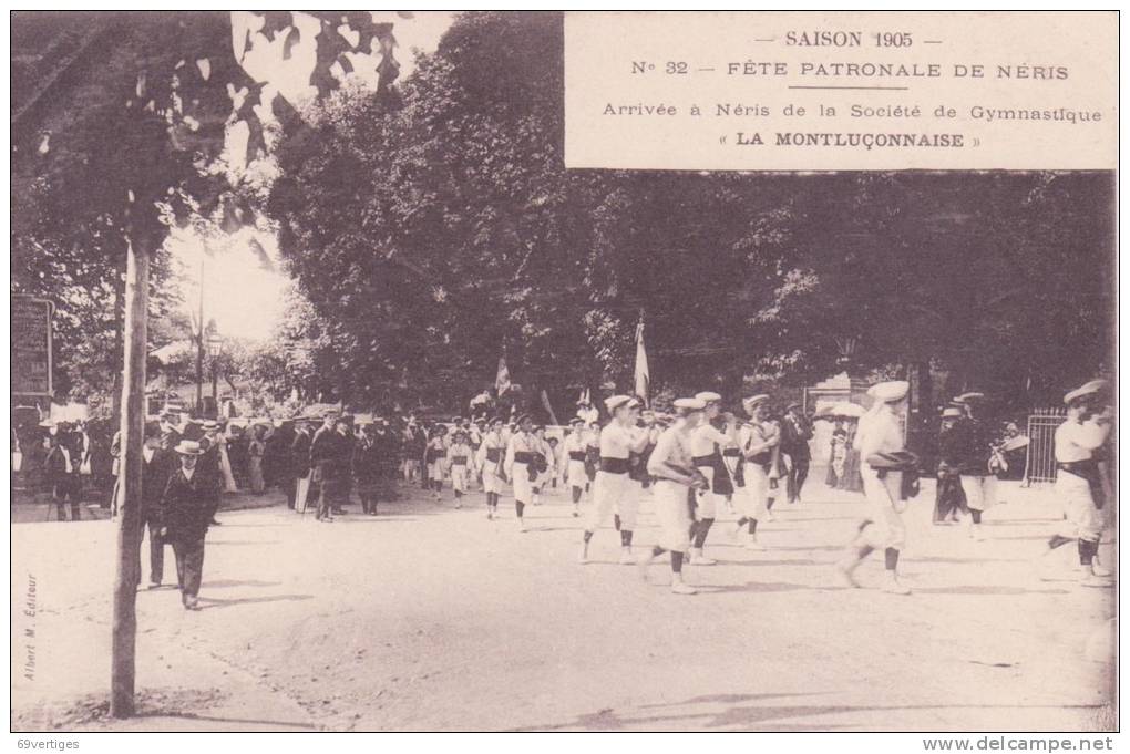
[[[205,564],[205,536],[212,515],[214,484],[198,466],[199,442],[181,440],[174,451],[180,467],[168,477],[160,506],[160,536],[173,545],[176,582],[185,610],[200,610],[198,595]]]

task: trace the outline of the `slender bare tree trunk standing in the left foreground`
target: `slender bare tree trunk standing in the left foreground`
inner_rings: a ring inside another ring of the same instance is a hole
[[[111,647],[110,713],[133,714],[137,585],[141,546],[141,444],[145,431],[145,362],[149,298],[149,239],[128,246],[125,265],[125,368],[122,384],[122,456],[119,476],[116,569]]]

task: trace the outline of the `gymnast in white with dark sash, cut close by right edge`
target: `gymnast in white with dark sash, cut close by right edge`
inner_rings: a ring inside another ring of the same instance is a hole
[[[1111,572],[1098,562],[1110,497],[1101,457],[1111,432],[1106,404],[1109,383],[1095,379],[1066,396],[1067,421],[1055,430],[1055,496],[1063,506],[1064,531],[1048,543],[1051,552],[1071,540],[1078,543],[1084,586],[1110,587]]]

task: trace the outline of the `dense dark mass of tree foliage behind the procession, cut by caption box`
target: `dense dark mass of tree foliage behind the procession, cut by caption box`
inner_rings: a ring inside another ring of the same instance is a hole
[[[393,96],[286,138],[268,210],[342,397],[462,403],[925,366],[1043,400],[1110,349],[1109,174],[566,170],[562,29],[466,14]]]

